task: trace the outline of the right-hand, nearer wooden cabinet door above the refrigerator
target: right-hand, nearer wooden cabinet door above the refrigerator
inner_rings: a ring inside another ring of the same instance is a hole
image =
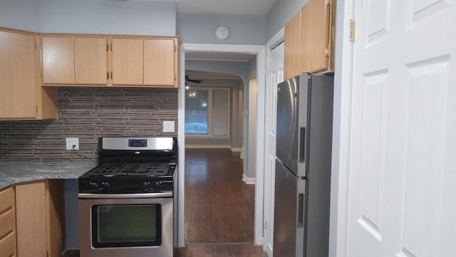
[[[319,73],[330,69],[331,5],[310,0],[301,9],[301,71]]]

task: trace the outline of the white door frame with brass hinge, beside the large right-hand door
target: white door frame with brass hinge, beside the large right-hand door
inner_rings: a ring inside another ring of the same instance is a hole
[[[349,40],[356,0],[339,0],[336,9],[333,151],[328,256],[346,257],[348,233],[348,178],[350,176],[353,41]],[[362,21],[358,21],[362,22]],[[355,39],[356,40],[356,39]],[[358,39],[359,40],[359,39]]]

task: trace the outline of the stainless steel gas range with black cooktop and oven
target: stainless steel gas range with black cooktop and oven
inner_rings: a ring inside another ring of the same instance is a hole
[[[176,138],[99,138],[78,179],[81,257],[172,256],[176,176]]]

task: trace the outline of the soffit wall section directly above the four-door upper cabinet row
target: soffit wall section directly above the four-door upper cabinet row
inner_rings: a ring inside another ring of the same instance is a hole
[[[174,36],[174,3],[38,0],[38,31]]]

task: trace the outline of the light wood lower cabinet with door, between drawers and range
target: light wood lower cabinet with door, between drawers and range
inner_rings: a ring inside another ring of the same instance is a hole
[[[63,251],[63,181],[16,185],[17,256],[57,257]]]

